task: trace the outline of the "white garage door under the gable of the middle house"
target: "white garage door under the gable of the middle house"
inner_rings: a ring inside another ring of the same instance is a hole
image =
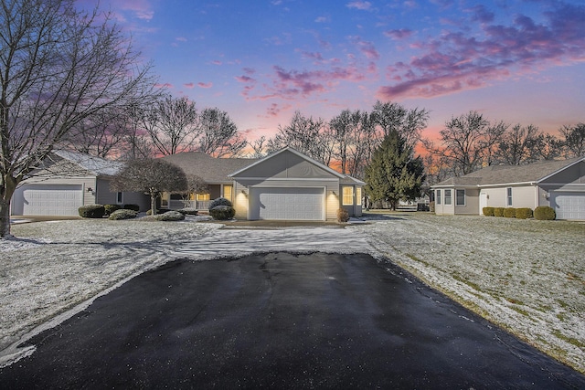
[[[250,219],[323,221],[323,188],[251,188]]]

